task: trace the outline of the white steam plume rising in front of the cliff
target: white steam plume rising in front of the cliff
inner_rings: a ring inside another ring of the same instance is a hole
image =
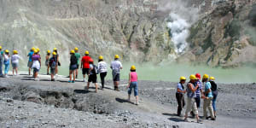
[[[191,7],[188,3],[178,0],[160,2],[161,11],[169,11],[167,26],[171,29],[171,38],[178,55],[183,54],[187,48],[189,27],[198,19],[199,9]]]

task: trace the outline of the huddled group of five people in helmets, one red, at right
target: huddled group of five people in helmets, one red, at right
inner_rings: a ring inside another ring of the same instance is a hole
[[[216,99],[218,96],[217,84],[214,82],[214,77],[204,74],[201,81],[201,74],[192,74],[189,77],[189,83],[186,84],[186,78],[181,77],[180,82],[177,84],[177,116],[182,115],[182,110],[187,105],[185,111],[184,121],[188,122],[189,113],[191,116],[197,119],[197,122],[201,122],[198,116],[198,109],[201,106],[201,99],[203,102],[203,119],[216,119]],[[185,88],[186,87],[186,88]],[[187,102],[185,103],[184,96],[187,93]],[[210,113],[210,117],[207,116],[207,109]],[[192,110],[192,111],[191,111]]]

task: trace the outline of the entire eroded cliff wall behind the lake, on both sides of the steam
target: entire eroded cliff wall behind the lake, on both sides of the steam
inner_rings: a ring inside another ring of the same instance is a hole
[[[189,23],[185,27],[191,26],[182,52],[177,52],[182,44],[175,42],[174,28],[168,27],[169,14],[192,14],[179,8],[177,0],[0,0],[0,44],[18,49],[23,63],[32,46],[42,56],[58,48],[61,61],[68,61],[69,50],[79,47],[81,54],[89,50],[95,59],[104,55],[108,61],[119,54],[124,61],[137,62],[255,62],[255,0],[185,2],[183,9],[199,12],[196,18],[179,15]]]

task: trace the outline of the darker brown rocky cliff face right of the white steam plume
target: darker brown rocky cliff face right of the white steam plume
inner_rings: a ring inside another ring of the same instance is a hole
[[[179,61],[201,61],[224,67],[255,63],[255,3],[255,0],[214,3],[191,27],[190,49]]]

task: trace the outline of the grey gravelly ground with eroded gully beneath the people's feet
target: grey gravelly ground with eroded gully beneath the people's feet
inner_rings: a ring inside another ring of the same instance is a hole
[[[202,124],[184,123],[175,115],[175,83],[139,81],[139,106],[126,102],[126,81],[121,90],[95,93],[85,83],[49,82],[20,75],[0,79],[0,127],[253,127],[256,119],[255,84],[218,84],[218,119]],[[202,114],[200,112],[200,114]]]

